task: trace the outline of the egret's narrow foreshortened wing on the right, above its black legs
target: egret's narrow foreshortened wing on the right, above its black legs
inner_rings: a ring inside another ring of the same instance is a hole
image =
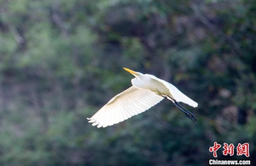
[[[188,96],[184,95],[181,91],[179,91],[178,88],[176,88],[174,85],[170,84],[169,82],[167,81],[164,81],[164,80],[161,80],[157,77],[154,77],[154,75],[151,75],[153,77],[151,77],[152,79],[158,81],[158,82],[161,82],[166,88],[169,89],[171,95],[174,97],[174,99],[177,101],[177,102],[182,102],[182,103],[186,103],[186,104],[189,104],[189,106],[192,106],[192,107],[197,107],[197,103],[194,102],[192,99],[190,99]]]

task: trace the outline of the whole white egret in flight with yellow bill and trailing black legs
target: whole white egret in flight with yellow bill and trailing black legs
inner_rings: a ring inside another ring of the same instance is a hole
[[[114,96],[96,114],[91,118],[87,118],[93,126],[97,125],[99,128],[117,124],[150,109],[150,107],[153,107],[163,99],[169,100],[186,116],[197,123],[194,114],[186,110],[179,102],[189,104],[192,107],[197,107],[197,103],[184,95],[174,85],[154,75],[142,74],[128,68],[124,69],[135,76],[132,79],[133,86]]]

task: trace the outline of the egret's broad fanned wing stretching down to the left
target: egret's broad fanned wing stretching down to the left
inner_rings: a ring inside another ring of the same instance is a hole
[[[116,95],[91,118],[93,126],[107,127],[142,113],[153,107],[164,98],[145,89],[137,89],[134,86]]]

